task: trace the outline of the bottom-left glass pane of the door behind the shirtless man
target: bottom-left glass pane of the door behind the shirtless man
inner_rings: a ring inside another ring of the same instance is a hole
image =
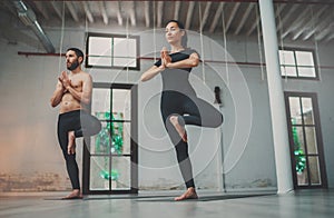
[[[90,190],[109,190],[109,157],[90,157]]]

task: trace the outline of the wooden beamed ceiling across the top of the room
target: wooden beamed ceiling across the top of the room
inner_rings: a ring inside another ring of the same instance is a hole
[[[20,4],[18,8],[18,4]],[[68,27],[134,27],[164,28],[169,19],[185,23],[186,29],[204,34],[257,36],[259,10],[256,0],[222,1],[32,1],[2,0],[0,2],[0,38],[24,40],[18,32],[20,13],[27,7],[41,29]],[[274,0],[277,37],[282,40],[334,40],[334,1]],[[27,12],[26,11],[26,12]],[[261,28],[259,28],[261,30]],[[22,32],[23,33],[23,32]],[[28,36],[27,36],[28,37]],[[27,39],[26,39],[27,40]],[[41,39],[38,39],[41,40]]]

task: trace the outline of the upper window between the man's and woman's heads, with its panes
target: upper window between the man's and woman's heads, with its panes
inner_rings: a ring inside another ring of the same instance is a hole
[[[139,70],[139,37],[88,33],[86,67]]]

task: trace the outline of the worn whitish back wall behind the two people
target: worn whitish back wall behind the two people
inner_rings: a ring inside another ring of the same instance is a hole
[[[112,29],[112,33],[125,30]],[[97,31],[97,30],[91,30]],[[108,30],[98,30],[108,33]],[[135,30],[134,30],[135,31]],[[60,32],[48,31],[56,49],[59,50]],[[140,34],[140,56],[153,57],[155,46],[159,50],[163,37],[153,43],[151,31]],[[257,40],[228,39],[225,53],[223,38],[213,36],[200,38],[189,32],[189,46],[197,49],[205,60],[259,62]],[[217,42],[216,42],[217,41]],[[254,41],[254,42],[252,42]],[[85,48],[85,30],[66,30],[63,50],[68,47]],[[7,44],[0,41],[0,191],[7,190],[63,190],[69,189],[65,162],[60,152],[56,123],[58,108],[49,106],[59,69],[59,57],[18,56],[18,51],[42,51],[24,44]],[[203,49],[203,50],[202,50]],[[204,51],[204,54],[203,54]],[[333,49],[320,47],[320,59],[331,66]],[[96,82],[138,83],[140,73],[153,61],[143,60],[140,72],[89,69]],[[205,75],[203,73],[205,70]],[[276,189],[274,149],[271,131],[268,93],[262,70],[256,66],[205,62],[194,70],[191,82],[198,96],[214,101],[214,87],[222,89],[224,115],[223,149],[219,129],[189,127],[190,158],[195,181],[199,188],[219,190],[222,188],[220,159],[224,159],[225,185],[227,190]],[[320,82],[285,83],[286,90],[314,90],[318,93],[321,122],[328,184],[334,186],[334,175],[330,170],[333,161],[333,93],[332,69],[322,70]],[[205,79],[205,82],[203,82]],[[320,85],[321,83],[321,85]],[[183,188],[176,164],[175,151],[169,142],[159,115],[160,77],[139,83],[139,189]],[[218,106],[216,106],[218,107]],[[197,140],[198,139],[198,140]],[[200,140],[199,140],[200,139]],[[78,160],[81,162],[80,146]],[[220,151],[224,153],[222,156]],[[161,170],[163,169],[163,170]],[[2,182],[3,181],[3,182]]]

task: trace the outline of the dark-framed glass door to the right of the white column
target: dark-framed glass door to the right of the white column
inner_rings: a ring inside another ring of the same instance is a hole
[[[326,172],[315,93],[285,92],[295,188],[326,188]]]

